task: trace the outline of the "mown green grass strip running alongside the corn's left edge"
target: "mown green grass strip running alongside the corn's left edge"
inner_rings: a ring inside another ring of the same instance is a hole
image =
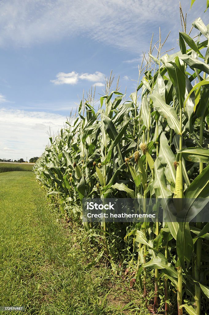
[[[139,314],[138,291],[125,277],[104,262],[85,269],[97,253],[79,225],[50,209],[31,172],[2,173],[0,187],[1,306],[34,315]]]

